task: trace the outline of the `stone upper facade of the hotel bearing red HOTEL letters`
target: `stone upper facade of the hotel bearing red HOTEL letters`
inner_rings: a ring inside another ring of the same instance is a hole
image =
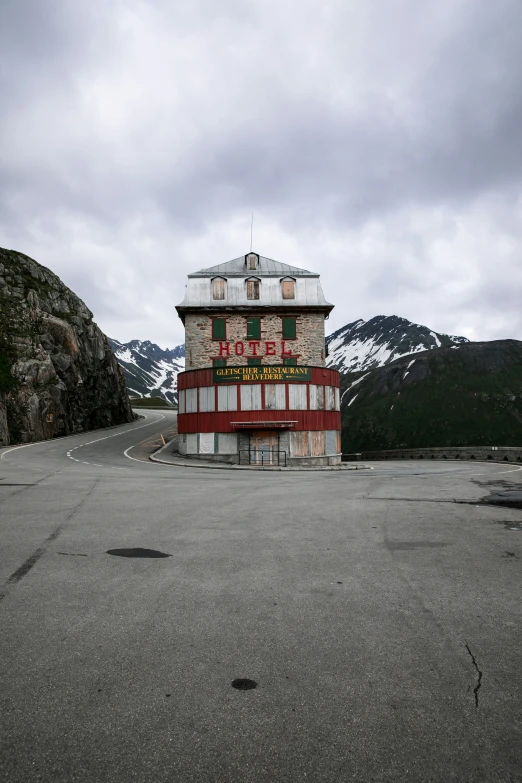
[[[297,364],[324,366],[324,314],[295,314],[295,339],[283,338],[283,316],[289,312],[220,313],[226,319],[226,339],[212,339],[212,317],[204,313],[185,317],[186,368],[197,370],[212,365],[213,359],[227,360],[227,366],[245,365],[250,358],[261,364],[282,364],[284,358],[296,358]],[[259,318],[261,334],[258,340],[247,337],[247,320]],[[268,344],[268,345],[267,345]],[[284,353],[283,353],[284,352]]]

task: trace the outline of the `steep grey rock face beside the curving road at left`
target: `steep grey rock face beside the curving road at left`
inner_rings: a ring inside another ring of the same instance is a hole
[[[91,311],[49,269],[0,248],[0,446],[133,419]]]

